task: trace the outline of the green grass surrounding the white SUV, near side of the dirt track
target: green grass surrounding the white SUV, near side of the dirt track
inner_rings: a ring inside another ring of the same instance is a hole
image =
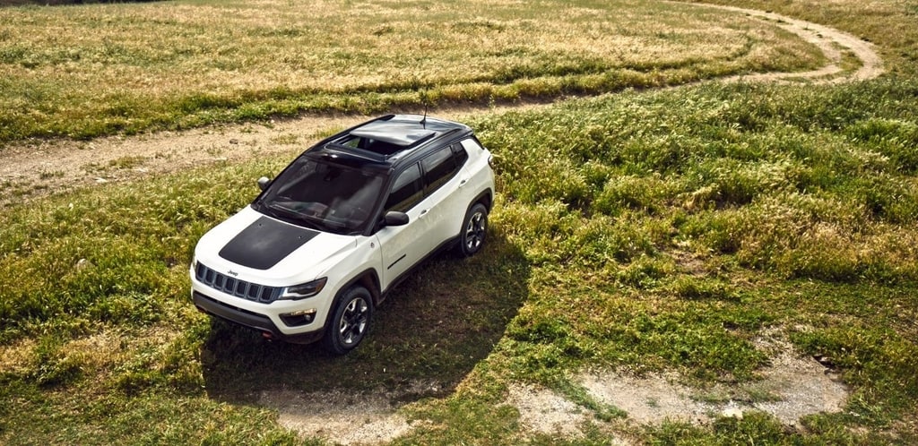
[[[405,441],[513,442],[514,412],[495,405],[511,382],[614,419],[572,374],[608,366],[748,381],[768,360],[752,340],[778,328],[834,358],[854,389],[845,415],[809,418],[806,433],[765,416],[626,432],[908,442],[918,184],[905,152],[918,142],[916,92],[890,81],[711,84],[473,119],[498,159],[492,243],[470,261],[422,268],[380,308],[367,344],[340,359],[211,322],[187,298],[196,239],[283,158],[13,207],[0,217],[0,438],[94,442],[101,430],[107,442],[173,427],[147,440],[296,442],[252,407],[262,392],[427,379],[444,385],[408,396],[434,397],[412,417],[440,428]],[[113,405],[122,411],[106,424]],[[207,429],[178,428],[213,411]],[[243,421],[252,418],[262,424]],[[39,419],[47,429],[25,429]]]

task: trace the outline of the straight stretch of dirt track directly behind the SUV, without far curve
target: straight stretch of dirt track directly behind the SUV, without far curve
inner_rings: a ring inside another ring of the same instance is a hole
[[[458,119],[531,106],[537,105],[440,108],[431,115]],[[240,162],[272,153],[302,151],[319,135],[366,119],[362,115],[313,115],[267,124],[17,145],[6,148],[0,158],[0,208],[79,187],[133,181],[214,162]]]

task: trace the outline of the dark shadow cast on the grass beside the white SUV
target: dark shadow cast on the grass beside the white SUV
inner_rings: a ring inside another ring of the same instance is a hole
[[[208,395],[256,403],[264,391],[282,389],[383,389],[401,400],[452,393],[493,349],[528,293],[522,252],[498,232],[489,236],[473,258],[443,253],[422,264],[376,308],[368,337],[345,356],[212,321],[201,351]]]

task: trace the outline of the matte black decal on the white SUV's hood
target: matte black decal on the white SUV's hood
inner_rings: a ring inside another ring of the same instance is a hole
[[[261,217],[229,240],[220,257],[256,270],[271,269],[319,232]]]

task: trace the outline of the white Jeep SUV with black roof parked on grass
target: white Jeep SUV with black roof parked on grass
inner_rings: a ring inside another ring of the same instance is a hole
[[[490,162],[471,128],[432,117],[379,117],[324,139],[198,241],[192,299],[267,339],[351,351],[412,267],[442,248],[481,249]]]

